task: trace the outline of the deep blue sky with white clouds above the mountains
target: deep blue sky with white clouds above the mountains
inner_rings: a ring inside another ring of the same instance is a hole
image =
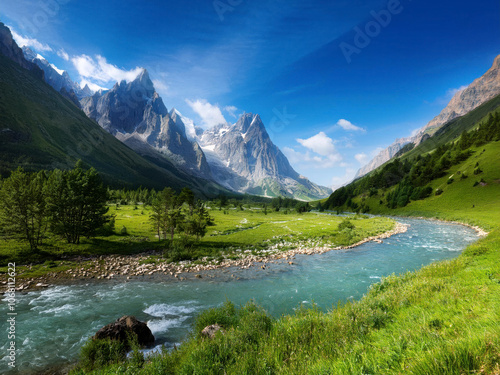
[[[144,67],[196,124],[258,113],[299,173],[338,186],[490,68],[500,2],[478,4],[16,0],[0,20],[75,81]]]

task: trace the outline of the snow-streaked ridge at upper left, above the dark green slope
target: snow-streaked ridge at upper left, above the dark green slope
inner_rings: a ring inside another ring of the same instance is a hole
[[[58,69],[54,64],[49,63],[43,56],[36,54],[29,47],[23,47],[22,50],[26,60],[36,64],[44,71],[45,82],[75,102],[75,104],[79,105],[81,99],[94,93],[88,86],[82,89],[80,85],[73,82],[67,71]]]

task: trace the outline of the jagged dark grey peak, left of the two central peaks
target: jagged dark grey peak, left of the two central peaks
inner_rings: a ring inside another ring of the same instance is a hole
[[[139,154],[164,155],[183,170],[212,179],[203,151],[187,138],[181,116],[168,112],[147,70],[131,82],[83,98],[81,105],[88,117]]]

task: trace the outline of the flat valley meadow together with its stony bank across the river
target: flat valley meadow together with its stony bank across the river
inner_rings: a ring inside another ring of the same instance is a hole
[[[369,241],[382,241],[407,229],[391,219],[352,215],[349,221],[354,228],[339,232],[337,227],[345,218],[330,214],[272,212],[264,215],[252,209],[229,210],[226,213],[215,210],[212,215],[216,225],[211,227],[207,237],[200,243],[189,244],[192,246],[190,250],[179,250],[171,248],[168,241],[158,243],[148,232],[147,226],[144,226],[147,223],[143,221],[147,218],[147,209],[139,211],[132,206],[121,206],[119,210],[115,208],[114,212],[118,214],[117,223],[123,227],[126,225],[132,234],[135,233],[131,241],[140,238],[142,242],[153,243],[155,247],[161,245],[163,250],[160,247],[139,254],[109,254],[84,244],[81,246],[87,253],[73,255],[73,259],[18,265],[17,291],[26,292],[46,288],[50,284],[89,279],[128,280],[151,276],[180,280],[193,276],[202,278],[202,273],[206,275],[208,271],[216,269],[265,269],[266,263],[275,261],[286,261],[293,266],[292,260],[298,254],[350,249]],[[123,239],[127,237],[118,237],[118,240],[112,238],[111,242]],[[54,258],[56,256],[53,254]],[[182,257],[186,259],[179,260]]]

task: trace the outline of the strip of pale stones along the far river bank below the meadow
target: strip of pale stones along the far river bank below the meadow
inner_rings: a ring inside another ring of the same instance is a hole
[[[318,246],[314,241],[299,244],[292,249],[282,250],[280,245],[275,244],[260,255],[253,255],[249,250],[240,251],[238,257],[225,257],[223,260],[209,260],[203,258],[198,261],[181,261],[178,263],[165,263],[153,261],[152,256],[159,255],[155,252],[147,252],[138,255],[110,255],[78,258],[78,266],[73,266],[65,271],[47,273],[46,275],[34,278],[21,279],[16,285],[16,292],[28,292],[32,290],[44,289],[52,285],[68,284],[71,282],[81,282],[85,280],[131,280],[153,275],[165,275],[174,279],[184,280],[186,274],[196,278],[202,278],[201,273],[215,271],[230,267],[249,269],[251,267],[266,268],[266,263],[288,262],[293,266],[293,259],[296,255],[323,254],[329,251],[353,249],[368,242],[382,243],[384,239],[396,234],[405,233],[408,226],[399,222],[395,227],[387,232],[376,236],[367,237],[349,246]],[[2,293],[7,289],[7,282],[2,282]]]

